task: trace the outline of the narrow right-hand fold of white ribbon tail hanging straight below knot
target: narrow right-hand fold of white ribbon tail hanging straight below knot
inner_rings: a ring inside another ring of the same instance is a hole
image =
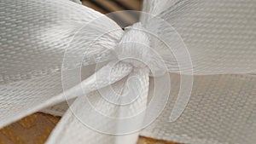
[[[143,121],[146,114],[147,102],[148,102],[148,87],[149,87],[149,77],[148,70],[142,69],[137,72],[131,73],[127,80],[129,87],[125,87],[124,94],[125,97],[122,97],[122,103],[127,102],[127,98],[132,101],[131,104],[120,107],[119,117],[134,117],[132,120],[127,119],[126,122],[119,121],[117,124],[117,132],[122,133],[125,129],[131,129],[134,127],[134,130],[130,130],[131,134],[125,135],[123,137],[116,138],[116,144],[136,144],[139,136],[139,130],[143,129]]]

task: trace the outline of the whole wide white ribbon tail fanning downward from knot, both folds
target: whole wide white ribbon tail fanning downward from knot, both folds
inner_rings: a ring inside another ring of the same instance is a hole
[[[131,72],[127,80],[78,97],[47,143],[136,144],[147,105],[148,83],[148,72],[139,70]]]

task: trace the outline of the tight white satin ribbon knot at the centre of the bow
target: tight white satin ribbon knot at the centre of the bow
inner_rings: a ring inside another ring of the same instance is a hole
[[[150,48],[150,33],[141,22],[125,27],[125,34],[117,44],[115,53],[119,60],[130,63],[134,67],[148,67],[153,75],[164,70],[162,68],[164,63],[160,56]]]

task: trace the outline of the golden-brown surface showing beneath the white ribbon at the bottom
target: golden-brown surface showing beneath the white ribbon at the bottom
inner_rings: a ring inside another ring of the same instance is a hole
[[[61,118],[42,112],[20,119],[0,130],[0,144],[43,144]],[[137,144],[177,144],[140,137]]]

